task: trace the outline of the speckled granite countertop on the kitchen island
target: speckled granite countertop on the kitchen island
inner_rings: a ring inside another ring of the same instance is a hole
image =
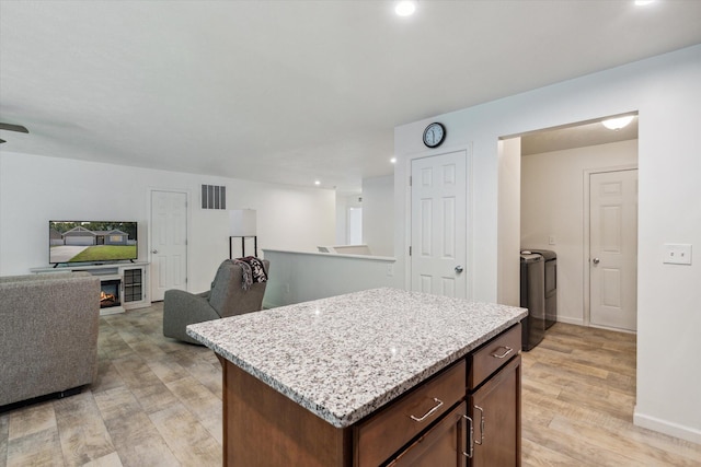
[[[384,288],[199,323],[187,334],[344,428],[526,315]]]

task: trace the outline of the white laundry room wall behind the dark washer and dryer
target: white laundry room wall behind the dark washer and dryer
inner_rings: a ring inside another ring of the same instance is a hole
[[[526,155],[521,246],[558,253],[558,319],[584,323],[584,173],[637,164],[637,140]],[[549,236],[555,245],[549,245]]]

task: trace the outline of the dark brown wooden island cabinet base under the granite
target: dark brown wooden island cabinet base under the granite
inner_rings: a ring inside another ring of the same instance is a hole
[[[520,466],[520,325],[347,428],[223,365],[226,466]]]

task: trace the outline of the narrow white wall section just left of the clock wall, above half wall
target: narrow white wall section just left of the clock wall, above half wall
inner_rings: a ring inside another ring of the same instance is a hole
[[[394,176],[363,179],[363,243],[374,255],[394,256]]]

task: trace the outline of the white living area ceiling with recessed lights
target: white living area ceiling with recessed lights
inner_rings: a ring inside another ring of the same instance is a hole
[[[393,128],[701,43],[701,1],[0,1],[1,151],[354,191]]]

